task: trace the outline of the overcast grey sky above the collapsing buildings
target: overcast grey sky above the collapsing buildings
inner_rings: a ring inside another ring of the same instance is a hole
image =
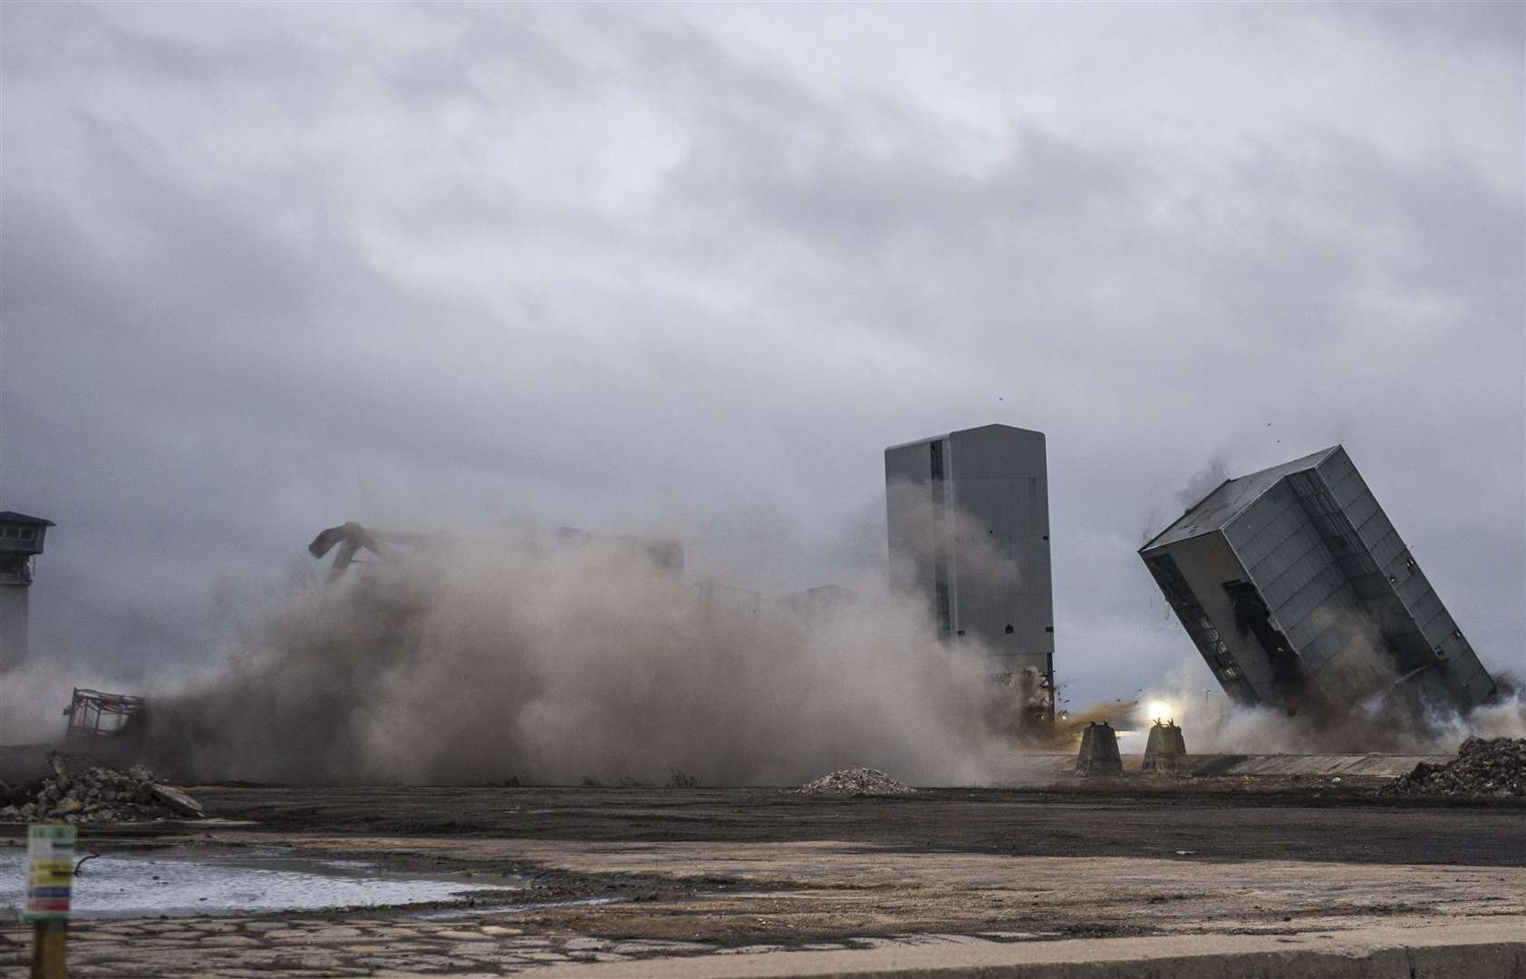
[[[1523,11],[6,3],[34,646],[194,663],[345,519],[816,585],[1003,422],[1073,700],[1210,684],[1135,548],[1337,441],[1520,672]]]

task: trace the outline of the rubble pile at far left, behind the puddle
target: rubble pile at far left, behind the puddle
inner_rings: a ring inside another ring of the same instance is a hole
[[[163,785],[143,765],[127,771],[92,765],[72,774],[61,756],[49,762],[52,776],[21,785],[0,782],[0,822],[131,823],[204,816],[200,802]]]

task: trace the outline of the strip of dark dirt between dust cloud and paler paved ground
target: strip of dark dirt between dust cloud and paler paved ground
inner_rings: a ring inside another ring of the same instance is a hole
[[[203,788],[269,832],[580,842],[841,840],[1012,857],[1526,866],[1526,803],[1384,799],[1369,787],[1144,777],[1042,790],[807,799],[778,788]]]

